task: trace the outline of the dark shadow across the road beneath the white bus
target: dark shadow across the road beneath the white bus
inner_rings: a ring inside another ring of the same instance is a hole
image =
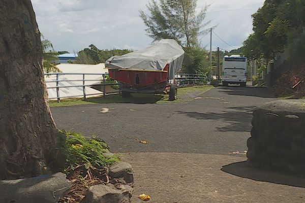
[[[271,90],[266,87],[219,87],[220,92],[229,95],[241,95],[241,96],[256,96],[262,98],[274,98]]]

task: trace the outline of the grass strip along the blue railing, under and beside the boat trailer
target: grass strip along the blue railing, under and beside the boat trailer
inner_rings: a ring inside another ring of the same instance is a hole
[[[213,86],[194,86],[178,89],[178,99],[168,100],[168,94],[138,94],[132,93],[130,97],[123,98],[118,94],[110,94],[102,97],[92,97],[83,100],[82,98],[64,99],[60,103],[49,101],[50,107],[63,107],[74,105],[92,105],[92,104],[113,104],[113,103],[131,103],[131,104],[171,104],[183,101],[189,101],[210,89]]]

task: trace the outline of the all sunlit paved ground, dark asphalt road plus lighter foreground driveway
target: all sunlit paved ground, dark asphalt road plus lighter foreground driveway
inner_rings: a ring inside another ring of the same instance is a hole
[[[134,167],[150,202],[304,202],[305,181],[247,165],[252,111],[274,100],[263,87],[217,87],[171,104],[51,108],[57,127],[95,134]],[[101,108],[110,112],[101,113]],[[147,141],[141,144],[139,141]]]

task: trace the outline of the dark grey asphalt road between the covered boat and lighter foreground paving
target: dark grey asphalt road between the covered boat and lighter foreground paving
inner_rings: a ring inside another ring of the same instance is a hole
[[[51,112],[59,129],[94,134],[115,153],[228,155],[247,150],[253,109],[274,99],[264,87],[217,87],[183,103],[99,104]],[[101,108],[110,112],[101,113]]]

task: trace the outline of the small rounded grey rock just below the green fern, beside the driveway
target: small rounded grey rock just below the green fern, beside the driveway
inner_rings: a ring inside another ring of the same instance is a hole
[[[133,183],[133,168],[129,163],[118,162],[109,168],[108,175],[112,178],[123,178],[126,183]]]

